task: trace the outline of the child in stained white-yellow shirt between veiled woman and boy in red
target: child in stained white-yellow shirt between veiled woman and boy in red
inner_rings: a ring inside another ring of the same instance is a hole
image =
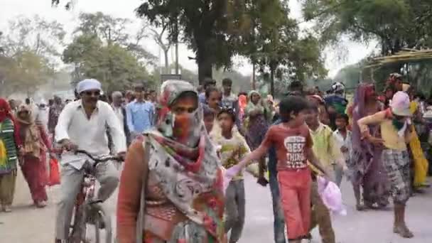
[[[212,141],[219,146],[222,166],[228,169],[235,166],[250,153],[246,140],[238,132],[233,132],[235,114],[232,109],[221,109],[217,114],[220,134],[212,134]],[[245,215],[243,171],[239,171],[229,182],[225,191],[225,232],[231,231],[229,243],[238,242],[242,236]]]

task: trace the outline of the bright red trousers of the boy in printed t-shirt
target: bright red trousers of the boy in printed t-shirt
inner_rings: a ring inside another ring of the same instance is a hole
[[[278,171],[288,239],[306,237],[311,226],[311,171]]]

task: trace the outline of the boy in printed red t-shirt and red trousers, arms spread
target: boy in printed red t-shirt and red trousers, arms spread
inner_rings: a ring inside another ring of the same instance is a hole
[[[239,165],[264,156],[271,146],[278,158],[278,181],[284,208],[289,242],[307,239],[311,225],[311,171],[308,161],[325,175],[323,166],[312,151],[313,142],[305,118],[310,105],[303,97],[286,97],[279,105],[282,123],[267,131],[259,148]]]

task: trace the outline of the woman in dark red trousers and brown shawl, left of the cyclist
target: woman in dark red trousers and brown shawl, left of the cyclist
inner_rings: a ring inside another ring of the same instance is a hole
[[[50,141],[42,124],[33,119],[31,108],[21,105],[16,113],[19,124],[19,136],[23,142],[23,157],[20,160],[21,171],[30,188],[31,198],[36,207],[45,207],[48,195],[45,185],[48,183],[46,171],[46,153],[50,151]]]

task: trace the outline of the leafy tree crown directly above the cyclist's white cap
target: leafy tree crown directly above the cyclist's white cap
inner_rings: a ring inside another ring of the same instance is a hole
[[[101,81],[107,92],[112,92],[151,78],[145,66],[156,57],[140,45],[144,32],[140,30],[134,37],[127,33],[128,23],[127,18],[100,12],[80,13],[76,36],[63,52],[63,62],[75,67],[72,72],[75,82],[92,77]]]

